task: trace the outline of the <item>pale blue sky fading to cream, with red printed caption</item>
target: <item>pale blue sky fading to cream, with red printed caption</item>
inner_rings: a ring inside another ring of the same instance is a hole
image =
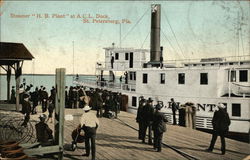
[[[164,60],[243,56],[250,50],[248,1],[1,0],[0,4],[0,41],[23,43],[35,57],[24,62],[27,74],[53,74],[56,68],[66,68],[67,74],[95,74],[96,62],[104,61],[103,48],[112,43],[119,47],[120,37],[124,48],[149,49],[151,4],[162,8]],[[100,20],[106,23],[97,23]]]

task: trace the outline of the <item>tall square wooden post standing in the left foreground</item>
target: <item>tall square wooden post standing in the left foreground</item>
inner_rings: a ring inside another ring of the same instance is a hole
[[[64,106],[65,105],[65,68],[56,69],[55,103],[55,143],[59,145],[58,159],[63,159]]]

